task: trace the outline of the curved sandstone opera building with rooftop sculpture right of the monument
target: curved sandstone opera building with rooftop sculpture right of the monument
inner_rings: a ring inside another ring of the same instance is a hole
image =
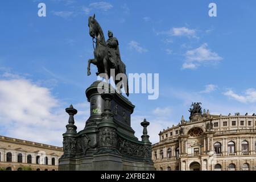
[[[193,103],[189,121],[160,131],[152,145],[156,170],[256,171],[256,116],[212,115]]]

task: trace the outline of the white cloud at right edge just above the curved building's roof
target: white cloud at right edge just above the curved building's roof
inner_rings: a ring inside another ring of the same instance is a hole
[[[253,88],[245,90],[245,94],[239,95],[233,92],[233,90],[229,89],[227,92],[224,93],[225,96],[233,98],[234,100],[242,103],[254,103],[256,102],[256,90]]]

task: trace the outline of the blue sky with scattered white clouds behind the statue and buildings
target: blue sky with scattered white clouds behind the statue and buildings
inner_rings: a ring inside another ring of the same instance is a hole
[[[46,3],[47,16],[38,16]],[[209,17],[209,3],[217,17]],[[89,115],[85,89],[93,58],[88,16],[119,41],[127,73],[159,73],[159,98],[131,94],[140,139],[146,118],[158,133],[188,120],[191,102],[212,114],[256,113],[255,1],[1,1],[0,134],[61,146],[65,107]]]

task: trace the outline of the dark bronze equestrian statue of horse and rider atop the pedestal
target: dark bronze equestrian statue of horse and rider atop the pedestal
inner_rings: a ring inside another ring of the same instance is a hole
[[[96,75],[100,75],[101,73],[105,73],[108,75],[108,79],[110,78],[110,69],[114,69],[115,77],[118,73],[123,73],[126,76],[126,65],[121,60],[120,52],[119,52],[119,44],[117,38],[113,36],[112,31],[108,31],[109,39],[105,42],[104,33],[100,24],[95,19],[95,14],[90,16],[88,19],[89,26],[89,34],[93,38],[93,47],[94,43],[96,43],[96,47],[94,48],[94,59],[88,60],[87,67],[87,75],[90,73],[90,64],[94,64],[98,68],[98,72]],[[95,40],[95,42],[94,42]],[[114,80],[115,85],[120,82],[120,80]],[[127,76],[125,80],[122,80],[121,88],[124,87],[125,93],[129,96],[129,87]]]

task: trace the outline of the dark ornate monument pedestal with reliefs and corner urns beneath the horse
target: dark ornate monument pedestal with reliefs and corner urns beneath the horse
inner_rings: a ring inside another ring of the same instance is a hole
[[[147,135],[149,122],[144,119],[142,141],[134,136],[131,114],[134,105],[116,92],[98,92],[100,81],[86,89],[90,102],[90,117],[84,130],[76,132],[73,115],[76,110],[67,108],[70,115],[67,132],[63,134],[64,154],[59,170],[155,170],[151,160],[151,143]]]

